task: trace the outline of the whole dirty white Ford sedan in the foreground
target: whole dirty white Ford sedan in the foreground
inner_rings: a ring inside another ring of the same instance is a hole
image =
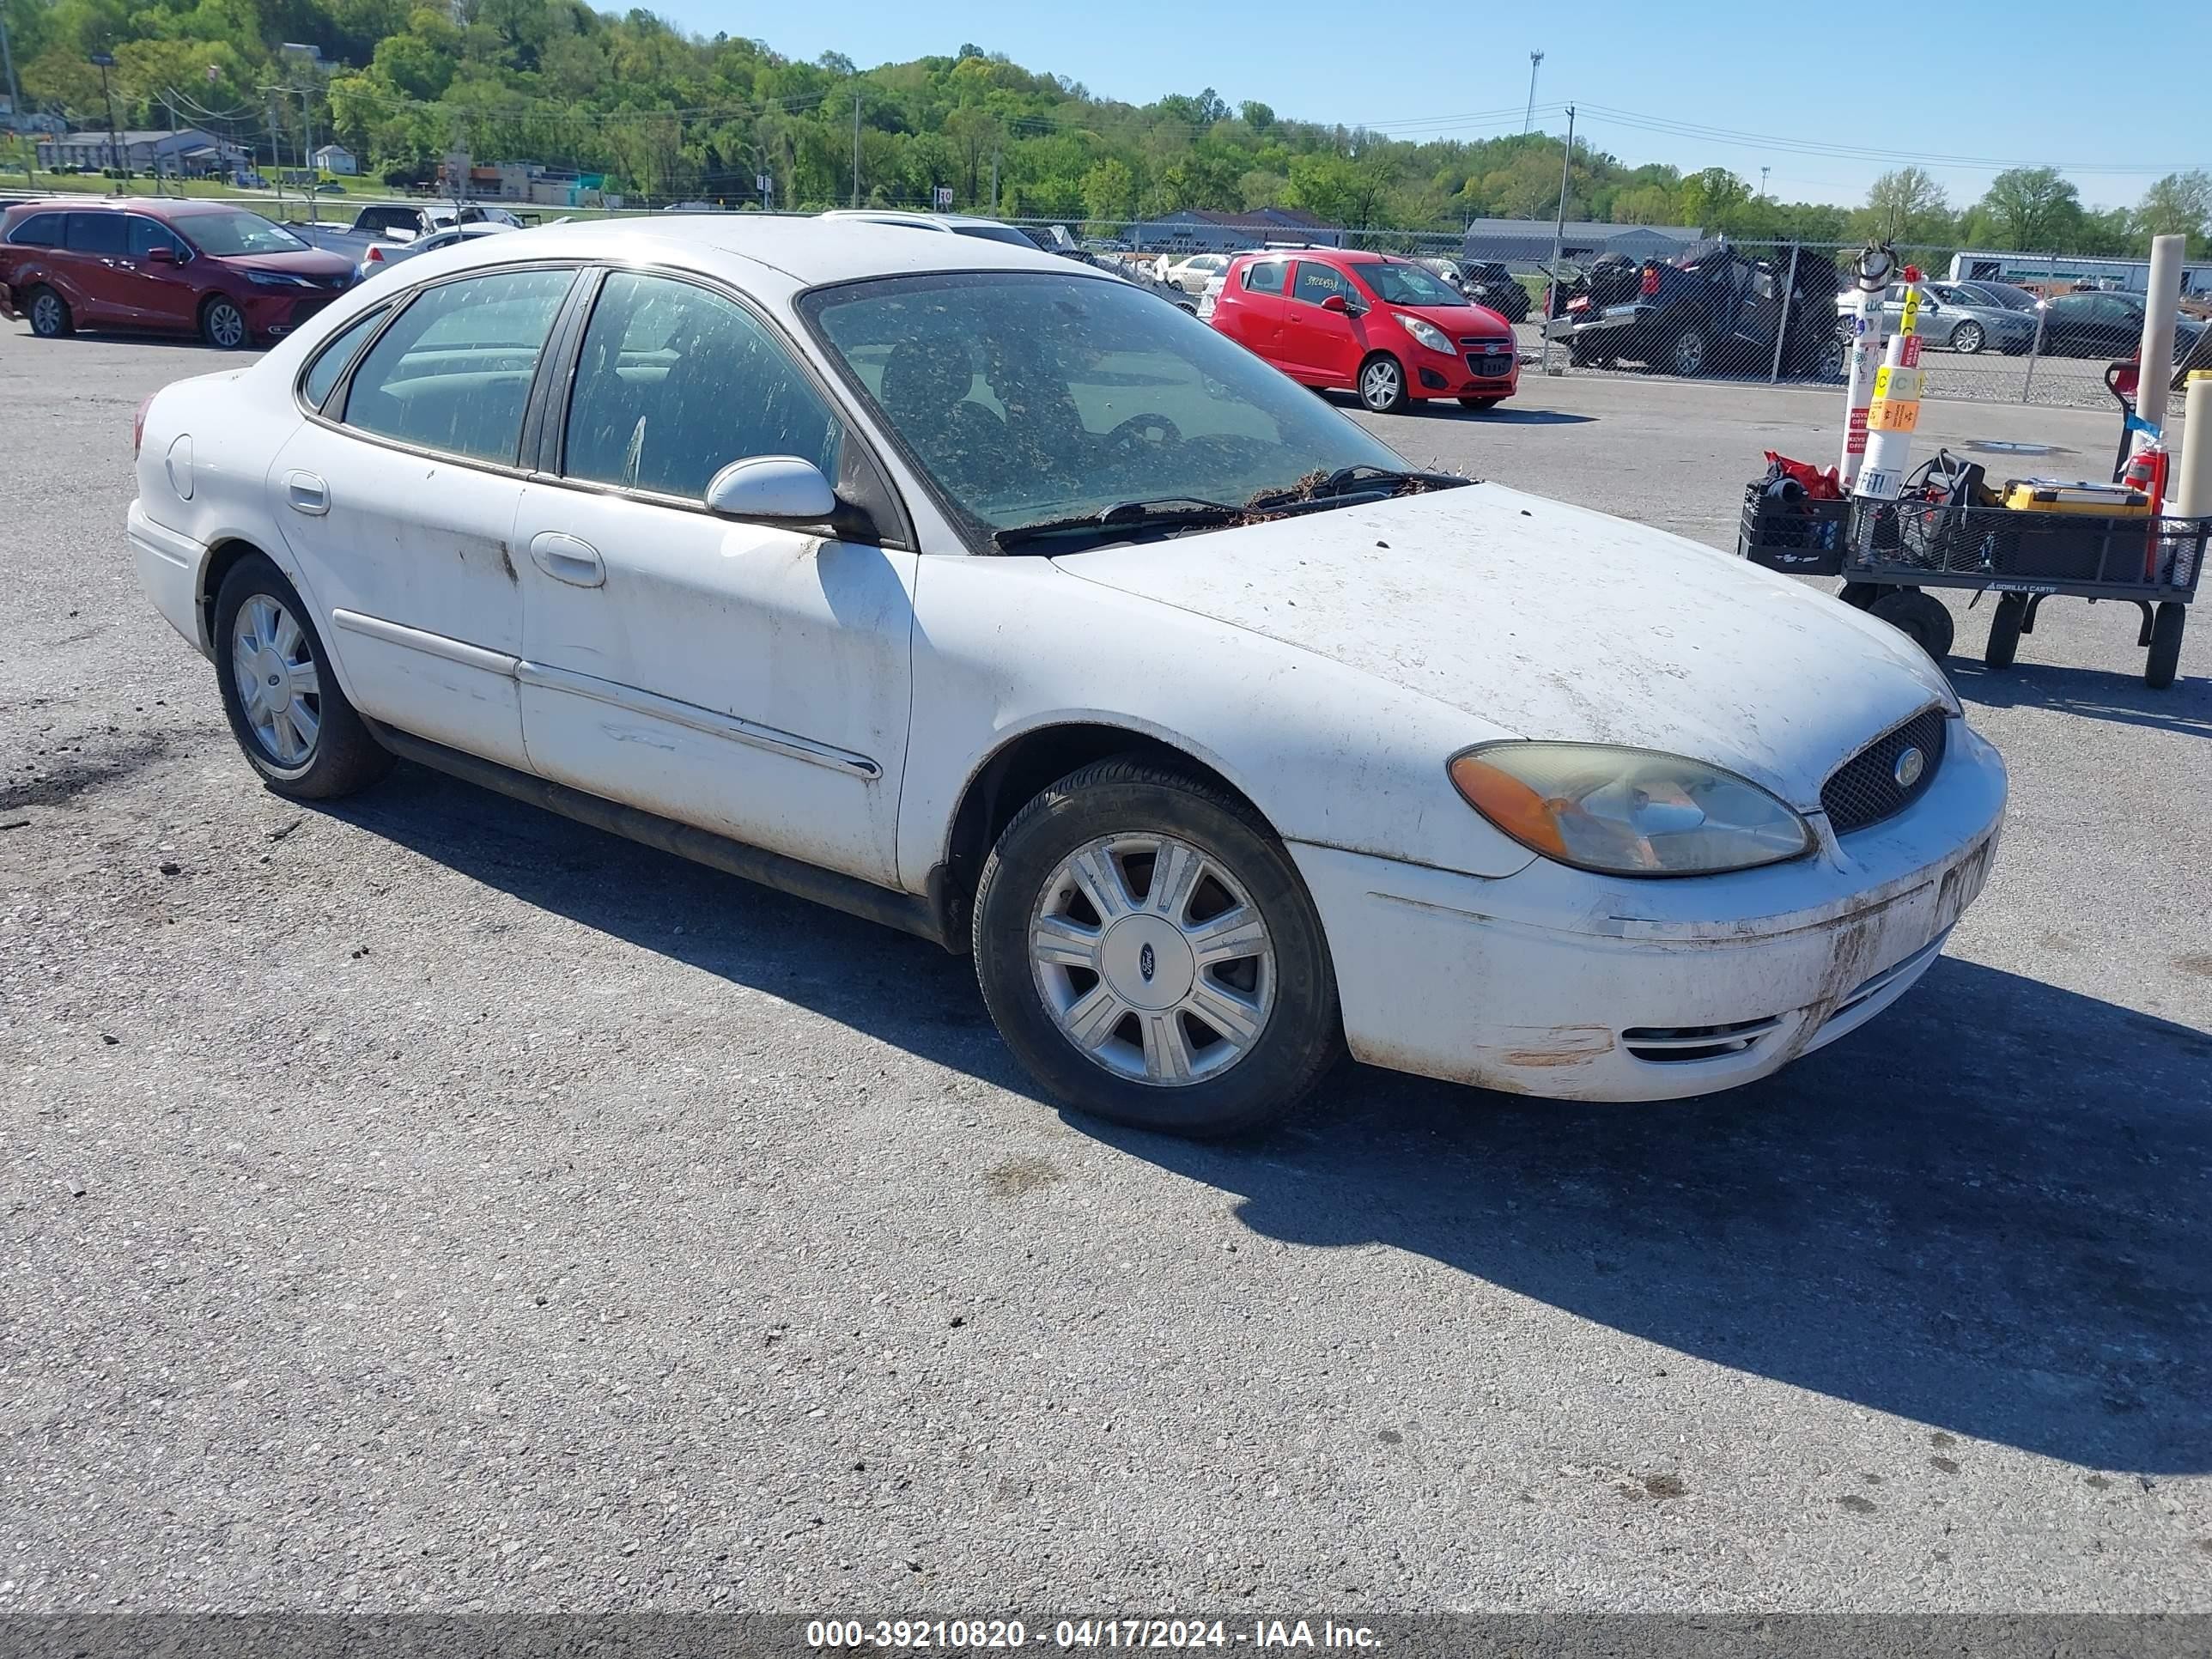
[[[971,949],[1192,1135],[1343,1048],[1763,1077],[1927,971],[2004,768],[1880,622],[1407,462],[1172,305],[697,217],[396,268],[142,411],[131,544],[268,787],[392,757]]]

